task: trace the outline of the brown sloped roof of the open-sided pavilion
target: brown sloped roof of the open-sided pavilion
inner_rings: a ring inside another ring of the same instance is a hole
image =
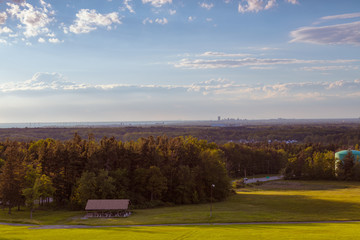
[[[129,203],[129,199],[90,199],[85,210],[127,210]]]

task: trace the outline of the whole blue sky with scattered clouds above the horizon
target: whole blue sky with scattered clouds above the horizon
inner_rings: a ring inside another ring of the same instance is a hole
[[[359,118],[359,0],[0,0],[0,123]]]

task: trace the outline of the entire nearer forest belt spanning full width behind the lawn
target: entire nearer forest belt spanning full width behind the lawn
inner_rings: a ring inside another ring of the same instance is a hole
[[[359,137],[359,136],[358,136]],[[34,200],[51,207],[83,209],[88,199],[129,198],[134,207],[220,201],[230,179],[283,174],[287,179],[360,180],[351,155],[335,167],[343,144],[288,141],[217,144],[187,137],[0,142],[0,200],[3,206]],[[355,149],[359,148],[354,144]],[[335,171],[336,170],[336,171]],[[212,185],[214,189],[211,189]],[[49,199],[52,203],[47,203]]]

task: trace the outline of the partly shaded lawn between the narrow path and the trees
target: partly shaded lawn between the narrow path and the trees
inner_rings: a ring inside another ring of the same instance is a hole
[[[0,222],[35,224],[140,225],[172,223],[231,223],[360,220],[360,183],[336,181],[273,181],[238,189],[226,201],[134,210],[128,218],[82,219],[84,212],[0,212]]]

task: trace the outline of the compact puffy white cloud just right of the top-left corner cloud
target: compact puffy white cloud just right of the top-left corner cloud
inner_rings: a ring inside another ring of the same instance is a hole
[[[89,33],[99,26],[108,27],[109,29],[112,24],[121,24],[117,12],[100,14],[95,9],[80,9],[76,14],[74,24],[69,27],[69,31],[75,34]]]

